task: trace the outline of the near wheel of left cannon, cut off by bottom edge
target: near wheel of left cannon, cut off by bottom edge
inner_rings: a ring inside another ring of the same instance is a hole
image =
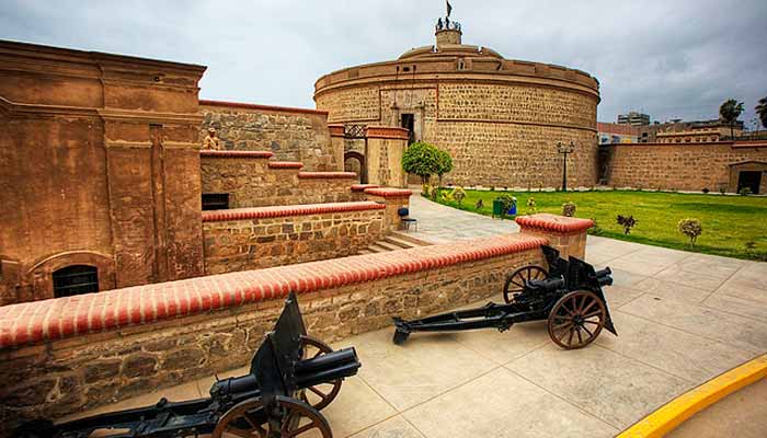
[[[250,399],[227,411],[216,424],[211,438],[272,438],[317,437],[333,438],[325,417],[308,404],[284,395],[275,397],[276,408],[282,414],[279,430],[263,422],[263,401]],[[262,418],[261,420],[259,418]],[[277,435],[278,434],[278,435]]]

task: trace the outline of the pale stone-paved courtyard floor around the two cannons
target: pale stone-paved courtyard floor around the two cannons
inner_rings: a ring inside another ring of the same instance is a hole
[[[424,220],[430,215],[420,206],[413,203],[413,215]],[[448,215],[438,215],[443,229],[465,220]],[[606,293],[619,337],[603,332],[584,349],[562,350],[546,323],[535,322],[505,333],[414,334],[403,346],[391,343],[392,328],[344,339],[335,347],[355,346],[363,368],[324,410],[334,436],[611,437],[767,353],[767,263],[596,237],[588,238],[586,258],[614,270]],[[160,395],[205,396],[213,380],[100,411],[153,403]],[[767,418],[757,420],[767,428]]]

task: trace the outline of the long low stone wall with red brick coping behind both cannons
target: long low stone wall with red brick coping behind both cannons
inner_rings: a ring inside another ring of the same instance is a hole
[[[0,308],[0,435],[245,365],[283,298],[327,342],[497,295],[546,239],[511,234]]]

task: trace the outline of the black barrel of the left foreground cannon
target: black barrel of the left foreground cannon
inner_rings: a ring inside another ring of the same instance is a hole
[[[360,364],[354,347],[324,354],[296,364],[296,385],[313,387],[357,373]]]

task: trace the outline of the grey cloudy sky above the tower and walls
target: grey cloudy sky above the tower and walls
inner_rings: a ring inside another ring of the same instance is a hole
[[[463,43],[587,71],[599,120],[767,96],[767,0],[451,0]],[[0,0],[0,38],[205,65],[203,99],[313,107],[322,74],[431,45],[442,0]]]

